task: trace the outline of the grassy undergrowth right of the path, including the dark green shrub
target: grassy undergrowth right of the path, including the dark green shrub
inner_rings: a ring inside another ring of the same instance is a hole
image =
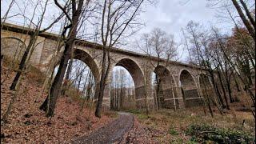
[[[144,126],[170,134],[170,143],[225,143],[221,141],[223,138],[227,143],[254,143],[251,141],[255,139],[255,121],[252,114],[246,112],[225,115],[216,112],[214,118],[200,108],[159,110],[148,115],[142,110],[129,112]]]

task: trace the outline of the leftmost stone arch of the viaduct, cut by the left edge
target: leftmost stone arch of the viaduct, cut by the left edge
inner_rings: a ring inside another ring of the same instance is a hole
[[[1,38],[1,54],[21,61],[22,55],[26,50],[26,44],[19,38],[5,37]]]

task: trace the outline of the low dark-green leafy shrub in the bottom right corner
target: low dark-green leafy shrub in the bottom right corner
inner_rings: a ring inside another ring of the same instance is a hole
[[[192,136],[196,142],[214,143],[253,143],[255,137],[239,130],[220,129],[208,125],[190,125],[186,134]]]

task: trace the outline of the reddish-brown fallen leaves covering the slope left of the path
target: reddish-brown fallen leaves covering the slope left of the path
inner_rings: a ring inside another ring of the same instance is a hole
[[[6,67],[3,67],[1,77],[5,78],[6,74]],[[12,96],[9,86],[14,78],[13,71],[9,77],[1,86],[1,118]],[[24,79],[7,122],[1,127],[1,142],[69,143],[72,138],[90,133],[114,119],[104,114],[102,118],[96,118],[93,110],[90,111],[86,107],[81,115],[78,115],[78,102],[70,102],[68,97],[58,98],[54,117],[46,118],[45,113],[39,110],[46,94],[42,94],[38,82]]]

